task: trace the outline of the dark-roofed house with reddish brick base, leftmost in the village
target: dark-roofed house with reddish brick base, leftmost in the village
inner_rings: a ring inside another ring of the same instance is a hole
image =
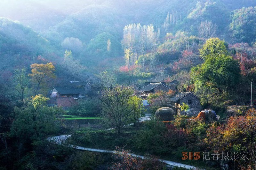
[[[91,92],[89,82],[69,81],[62,86],[55,86],[50,92],[48,106],[71,107],[77,104],[78,99],[85,98]]]

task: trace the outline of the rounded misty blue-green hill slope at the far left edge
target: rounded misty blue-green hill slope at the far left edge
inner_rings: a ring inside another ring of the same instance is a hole
[[[40,55],[51,61],[58,58],[58,50],[32,28],[7,18],[0,18],[0,28],[2,66],[28,66]]]

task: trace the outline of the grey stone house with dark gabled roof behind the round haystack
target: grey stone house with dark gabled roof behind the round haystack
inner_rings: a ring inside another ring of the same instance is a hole
[[[196,116],[201,110],[200,99],[192,92],[179,92],[175,97],[171,98],[172,108],[176,115]],[[186,103],[189,107],[188,111],[181,111],[180,105]]]

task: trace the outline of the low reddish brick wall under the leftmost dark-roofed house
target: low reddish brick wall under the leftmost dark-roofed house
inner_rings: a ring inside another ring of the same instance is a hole
[[[47,101],[48,106],[62,106],[62,107],[71,107],[78,103],[77,99],[74,99],[73,97],[54,97],[50,98],[50,100]]]

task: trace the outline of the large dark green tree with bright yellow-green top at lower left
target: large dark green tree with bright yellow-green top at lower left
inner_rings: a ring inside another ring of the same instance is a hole
[[[40,145],[49,135],[57,134],[60,122],[56,116],[62,113],[59,107],[46,106],[42,95],[36,95],[31,100],[25,100],[23,107],[15,107],[15,119],[11,125],[11,137],[16,139],[18,158],[20,159],[33,146]]]

